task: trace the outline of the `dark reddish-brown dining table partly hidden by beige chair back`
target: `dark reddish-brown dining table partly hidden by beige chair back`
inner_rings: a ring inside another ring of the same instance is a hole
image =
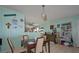
[[[26,47],[27,47],[27,52],[28,53],[31,53],[32,51],[31,51],[31,49],[32,48],[36,48],[36,42],[34,41],[34,39],[30,39],[30,40],[32,40],[32,41],[28,41],[28,44],[27,44],[27,42],[24,44],[24,46],[26,45]],[[48,45],[48,53],[50,53],[50,40],[46,40],[46,41],[44,41],[44,43],[43,43],[43,45]]]

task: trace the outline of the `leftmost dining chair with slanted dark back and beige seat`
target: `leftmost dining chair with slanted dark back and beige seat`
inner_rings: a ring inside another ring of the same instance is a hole
[[[27,52],[27,49],[26,48],[15,48],[14,45],[13,45],[13,42],[7,38],[7,42],[8,42],[8,45],[10,47],[10,51],[11,53],[24,53],[24,52]]]

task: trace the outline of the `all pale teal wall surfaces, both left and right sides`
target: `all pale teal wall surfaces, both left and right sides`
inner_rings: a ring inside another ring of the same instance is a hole
[[[4,14],[16,14],[16,19],[18,20],[17,22],[17,28],[15,29],[12,23],[12,19],[14,17],[4,17]],[[1,46],[1,51],[0,52],[6,52],[9,49],[8,43],[7,43],[7,37],[10,36],[10,39],[15,42],[15,47],[20,47],[21,46],[21,37],[24,34],[28,34],[30,39],[35,38],[39,36],[39,33],[36,32],[24,32],[24,22],[21,22],[20,19],[24,19],[24,14],[19,13],[18,11],[11,10],[8,8],[4,8],[0,6],[0,37],[3,39],[3,44]],[[27,18],[26,18],[27,20]],[[47,21],[42,22],[39,24],[40,26],[44,27],[46,32],[52,32],[50,30],[50,25],[57,25],[57,24],[63,24],[67,22],[72,23],[72,36],[74,40],[74,46],[76,46],[78,42],[77,34],[77,21],[79,20],[79,16],[71,16],[71,17],[64,17],[60,19],[55,19],[55,20],[50,20],[48,19]],[[6,23],[10,22],[11,27],[10,29],[7,29]],[[60,32],[60,29],[57,29]]]

